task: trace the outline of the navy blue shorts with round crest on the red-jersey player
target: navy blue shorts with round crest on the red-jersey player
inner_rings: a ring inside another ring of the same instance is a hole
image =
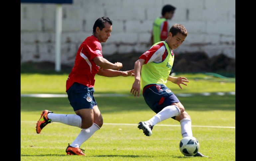
[[[93,109],[97,103],[93,97],[93,87],[88,88],[80,83],[74,83],[67,90],[67,98],[74,111],[80,109]]]

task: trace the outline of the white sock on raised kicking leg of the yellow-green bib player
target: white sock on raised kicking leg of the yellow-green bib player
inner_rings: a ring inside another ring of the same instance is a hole
[[[180,113],[181,113],[180,109],[178,107],[176,107],[175,105],[167,106],[162,111],[160,111],[155,116],[153,116],[153,118],[151,118],[147,122],[149,122],[151,125],[155,125],[158,122],[164,121],[171,117],[179,116]]]

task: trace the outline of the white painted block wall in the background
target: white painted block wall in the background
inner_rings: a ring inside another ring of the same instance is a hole
[[[72,64],[81,42],[92,34],[97,18],[113,20],[102,43],[103,55],[141,52],[150,47],[150,33],[162,7],[177,9],[170,26],[183,24],[188,37],[181,52],[224,53],[235,58],[235,0],[73,0],[63,5],[62,63]],[[55,4],[21,3],[21,63],[55,60]],[[188,14],[187,14],[188,13]]]

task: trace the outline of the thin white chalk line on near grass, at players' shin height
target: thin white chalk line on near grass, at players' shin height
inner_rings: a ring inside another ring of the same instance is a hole
[[[37,121],[21,121],[21,122],[34,122]],[[54,123],[60,123],[60,122],[54,122]],[[125,126],[137,126],[136,123],[103,123],[104,125],[125,125]],[[157,124],[155,126],[175,126],[180,127],[181,125],[169,125],[169,124]],[[204,126],[204,125],[192,125],[192,127],[209,127],[209,128],[236,128],[234,126]]]

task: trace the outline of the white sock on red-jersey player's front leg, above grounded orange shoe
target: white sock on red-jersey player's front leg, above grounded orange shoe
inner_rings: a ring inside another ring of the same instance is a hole
[[[94,132],[97,131],[98,129],[100,129],[100,127],[96,123],[93,123],[92,126],[89,128],[83,128],[79,135],[75,138],[75,140],[70,144],[70,146],[79,148],[81,144],[84,141],[88,140],[91,137],[91,135],[94,134]]]

